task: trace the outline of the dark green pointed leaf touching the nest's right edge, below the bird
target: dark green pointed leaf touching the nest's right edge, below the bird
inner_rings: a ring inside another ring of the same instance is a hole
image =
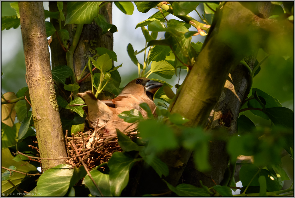
[[[123,134],[119,129],[116,129],[118,135],[118,143],[123,151],[142,151],[144,146],[138,146],[126,134]]]

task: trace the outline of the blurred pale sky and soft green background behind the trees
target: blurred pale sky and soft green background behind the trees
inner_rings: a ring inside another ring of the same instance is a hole
[[[10,8],[11,2],[1,2],[1,16],[16,15],[15,11]],[[134,4],[134,3],[133,3]],[[49,10],[48,2],[43,2],[44,9]],[[203,4],[197,7],[199,13],[204,13]],[[127,45],[132,44],[134,50],[140,51],[145,46],[145,39],[141,32],[141,28],[135,30],[136,24],[146,20],[152,14],[157,12],[158,9],[151,9],[147,13],[141,13],[134,5],[134,12],[132,15],[123,14],[115,5],[113,5],[113,24],[118,28],[118,32],[113,34],[114,46],[113,51],[117,54],[118,62],[114,62],[115,66],[123,63],[123,67],[119,68],[122,82],[120,87],[124,87],[129,81],[137,77],[138,68],[133,64],[127,54]],[[200,21],[200,17],[195,12],[191,12],[191,17]],[[169,19],[177,19],[173,15],[169,14],[166,17]],[[207,17],[209,22],[211,17]],[[49,18],[47,19],[49,20]],[[191,27],[190,30],[195,30]],[[158,34],[158,38],[164,38],[163,33]],[[192,42],[202,42],[205,36],[193,36]],[[266,53],[263,50],[259,50],[257,60],[260,62]],[[143,63],[144,53],[137,55],[138,61]],[[214,57],[212,57],[214,58]],[[287,59],[287,60],[286,60]],[[255,76],[253,82],[253,88],[258,88],[271,96],[278,99],[284,107],[294,109],[294,61],[291,58],[282,58],[271,55],[261,65],[261,71]],[[3,72],[1,79],[2,93],[17,91],[26,85],[25,81],[25,61],[23,54],[23,43],[21,38],[20,27],[17,29],[11,28],[10,30],[1,31],[1,71]],[[177,72],[179,73],[179,71]],[[176,83],[182,83],[187,74],[186,70],[181,71],[180,79],[174,76],[172,79],[163,79],[157,74],[151,74],[150,78],[157,78],[160,80],[166,80],[167,83],[175,86]],[[214,85],[212,85],[214,86]],[[176,92],[176,88],[172,90]],[[252,91],[250,92],[252,93]],[[157,104],[157,102],[156,102]],[[250,111],[243,112],[247,115],[255,124],[262,126],[270,126],[270,121],[253,115]]]

